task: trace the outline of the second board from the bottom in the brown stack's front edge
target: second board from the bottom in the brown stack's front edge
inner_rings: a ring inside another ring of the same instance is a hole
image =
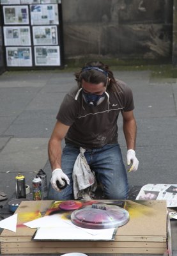
[[[26,243],[1,243],[1,248],[30,248],[32,244],[30,242]],[[120,248],[120,247],[143,247],[143,248],[166,248],[166,243],[146,243],[146,242],[119,242],[119,243],[102,243],[102,242],[34,242],[33,247],[43,247],[43,248],[49,248],[49,247],[72,247],[72,248],[85,248],[85,247],[102,247],[102,248]]]

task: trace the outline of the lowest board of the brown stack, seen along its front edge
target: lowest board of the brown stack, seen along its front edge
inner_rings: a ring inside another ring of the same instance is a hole
[[[141,254],[162,254],[166,251],[166,248],[75,248],[75,252],[81,253],[141,253]],[[70,253],[73,252],[73,248],[43,248],[43,247],[30,247],[30,248],[2,248],[2,254],[28,254],[28,253]]]

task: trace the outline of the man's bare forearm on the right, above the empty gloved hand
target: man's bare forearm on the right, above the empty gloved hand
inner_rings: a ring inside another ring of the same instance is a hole
[[[123,122],[123,132],[127,143],[127,149],[134,149],[136,144],[137,125],[135,119]]]

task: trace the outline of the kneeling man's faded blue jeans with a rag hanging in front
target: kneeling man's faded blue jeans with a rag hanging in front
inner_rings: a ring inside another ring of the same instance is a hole
[[[67,143],[63,148],[61,166],[63,172],[70,179],[70,185],[58,192],[49,184],[49,200],[73,199],[72,171],[79,152],[79,147],[70,143]],[[102,186],[105,198],[112,200],[126,199],[128,196],[127,171],[123,164],[119,145],[109,144],[103,148],[86,150],[84,156],[91,170],[95,172],[96,179]]]

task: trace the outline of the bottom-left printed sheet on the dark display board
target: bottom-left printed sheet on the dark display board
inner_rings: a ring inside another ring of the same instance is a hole
[[[31,67],[31,47],[6,47],[6,63],[8,67]]]

